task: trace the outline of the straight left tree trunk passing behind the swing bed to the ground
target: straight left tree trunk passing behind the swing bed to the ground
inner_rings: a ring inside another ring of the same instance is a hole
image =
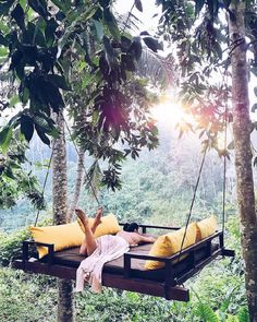
[[[66,179],[66,146],[64,122],[60,114],[56,116],[60,136],[53,142],[52,155],[52,203],[53,223],[68,223],[68,179]],[[58,322],[73,322],[73,283],[66,279],[58,281]]]

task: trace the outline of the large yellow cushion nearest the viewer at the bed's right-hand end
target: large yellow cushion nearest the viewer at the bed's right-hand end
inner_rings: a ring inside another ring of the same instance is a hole
[[[185,228],[181,228],[176,231],[158,237],[155,243],[152,245],[149,251],[149,254],[154,257],[167,258],[178,253],[181,250],[181,245],[182,245],[184,234],[185,234]],[[187,227],[186,236],[185,236],[182,249],[187,248],[192,246],[193,243],[195,243],[195,239],[196,239],[196,224],[192,223]],[[146,261],[145,263],[146,270],[157,270],[163,266],[164,266],[164,263],[161,263],[158,261]]]

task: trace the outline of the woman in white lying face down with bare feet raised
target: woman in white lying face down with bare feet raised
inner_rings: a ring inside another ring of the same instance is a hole
[[[130,250],[130,247],[142,242],[155,242],[155,238],[145,237],[138,232],[138,225],[125,225],[124,230],[117,235],[105,235],[94,237],[97,226],[101,223],[103,208],[97,211],[93,226],[89,226],[87,216],[82,210],[75,210],[76,215],[85,227],[85,239],[81,246],[79,253],[87,255],[81,262],[76,272],[76,291],[84,289],[84,283],[91,285],[95,293],[101,291],[101,273],[105,263],[120,258]]]

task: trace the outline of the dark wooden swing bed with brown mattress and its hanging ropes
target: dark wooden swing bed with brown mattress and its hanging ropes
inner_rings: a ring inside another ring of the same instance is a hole
[[[194,195],[191,202],[182,246],[187,226],[189,224],[205,156],[206,151],[203,155],[198,178],[194,189]],[[85,174],[87,175],[86,170]],[[151,248],[150,243],[133,247],[128,252],[124,253],[119,259],[112,260],[105,264],[102,271],[102,285],[122,290],[131,290],[140,294],[163,297],[168,300],[188,301],[189,291],[184,286],[182,286],[184,282],[193,277],[218,257],[234,257],[234,251],[225,249],[224,247],[225,157],[223,175],[222,230],[216,231],[211,236],[185,249],[182,249],[181,246],[181,250],[178,253],[167,258],[149,255],[148,253]],[[48,175],[46,176],[46,180],[47,177]],[[44,189],[46,187],[46,180],[44,183]],[[94,195],[99,204],[96,193],[94,193]],[[123,226],[124,224],[120,225]],[[139,228],[143,234],[151,232],[152,230],[149,231],[150,229],[158,229],[160,235],[166,234],[167,230],[180,229],[179,227],[162,227],[151,225],[139,225]],[[48,254],[40,260],[38,259],[38,254],[36,252],[37,246],[44,246],[48,248]],[[79,266],[82,260],[85,259],[84,255],[79,254],[78,250],[79,248],[72,248],[54,252],[53,243],[42,243],[36,242],[34,240],[26,240],[23,241],[22,258],[13,262],[13,267],[36,274],[45,274],[65,279],[75,279],[76,270]],[[146,260],[161,262],[164,264],[163,269],[146,270],[144,267]]]

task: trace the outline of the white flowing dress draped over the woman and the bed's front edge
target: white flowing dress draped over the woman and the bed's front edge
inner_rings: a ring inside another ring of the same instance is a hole
[[[94,293],[100,293],[103,265],[130,250],[128,242],[119,236],[105,235],[97,238],[96,242],[97,248],[94,253],[83,260],[76,271],[76,291],[83,291],[87,282]]]

